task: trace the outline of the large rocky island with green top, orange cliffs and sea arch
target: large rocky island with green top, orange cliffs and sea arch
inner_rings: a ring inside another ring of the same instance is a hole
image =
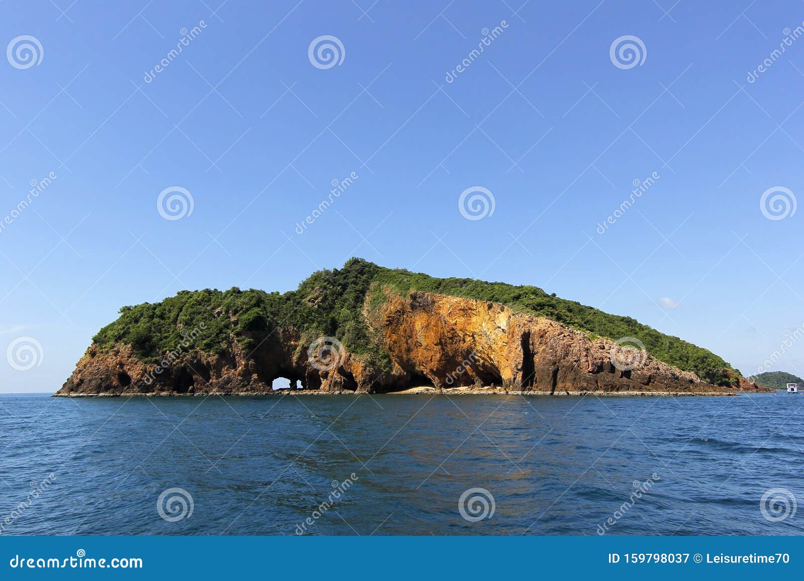
[[[763,391],[630,317],[355,258],[288,293],[204,289],[123,307],[55,395],[272,395],[277,378],[330,394]]]

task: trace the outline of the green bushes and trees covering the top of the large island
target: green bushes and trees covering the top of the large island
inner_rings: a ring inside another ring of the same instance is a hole
[[[181,291],[158,303],[126,306],[117,321],[92,338],[100,349],[115,343],[133,347],[146,361],[156,361],[175,349],[191,329],[203,323],[195,347],[223,354],[233,340],[245,350],[255,336],[293,328],[303,340],[322,336],[338,338],[351,353],[380,370],[388,370],[387,352],[374,341],[363,314],[368,297],[372,311],[385,301],[386,289],[412,290],[494,301],[520,313],[548,317],[589,333],[591,338],[638,338],[648,353],[662,362],[692,371],[708,383],[731,385],[740,373],[709,350],[677,337],[659,333],[631,317],[604,313],[577,301],[556,297],[535,286],[515,286],[466,278],[436,278],[398,268],[384,268],[353,258],[343,268],[314,272],[288,293],[230,288]]]

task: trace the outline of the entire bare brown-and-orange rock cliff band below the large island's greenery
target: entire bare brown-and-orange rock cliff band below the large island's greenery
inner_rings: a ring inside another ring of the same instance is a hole
[[[494,386],[496,391],[552,395],[734,391],[703,383],[644,351],[589,338],[567,325],[496,303],[388,292],[387,300],[373,309],[367,297],[363,314],[375,342],[390,355],[390,370],[376,369],[331,338],[310,346],[295,329],[277,329],[253,337],[256,348],[249,353],[232,340],[224,355],[191,351],[157,365],[137,358],[130,346],[105,353],[92,346],[56,395],[270,394],[278,377],[299,380],[308,391],[330,393],[384,393],[414,386],[445,391]]]

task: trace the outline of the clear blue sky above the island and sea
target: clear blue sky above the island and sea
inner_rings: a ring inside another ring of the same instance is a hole
[[[285,291],[350,256],[535,284],[751,373],[804,323],[804,211],[760,207],[804,190],[802,21],[793,0],[6,0],[0,48],[39,46],[0,59],[0,347],[41,350],[0,358],[0,391],[58,389],[121,305]],[[309,57],[324,35],[334,66]],[[617,66],[626,35],[644,59]],[[192,211],[165,219],[173,186]]]

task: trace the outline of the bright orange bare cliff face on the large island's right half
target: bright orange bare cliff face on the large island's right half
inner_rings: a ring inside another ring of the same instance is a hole
[[[494,384],[550,394],[729,391],[644,353],[629,369],[630,362],[620,360],[609,339],[593,340],[567,325],[495,303],[430,293],[394,297],[384,306],[381,330],[396,375],[423,375],[440,388]]]

